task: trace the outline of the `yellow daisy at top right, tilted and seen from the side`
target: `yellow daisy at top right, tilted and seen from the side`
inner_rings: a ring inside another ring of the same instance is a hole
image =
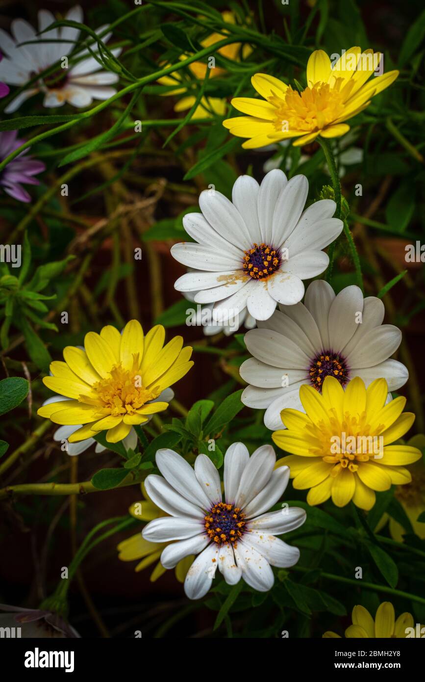
[[[255,74],[253,87],[266,100],[237,97],[234,108],[248,116],[223,121],[232,135],[247,137],[245,149],[256,149],[271,142],[296,137],[294,145],[313,142],[318,135],[340,137],[349,130],[343,123],[358,114],[371,99],[398,76],[389,71],[375,76],[380,53],[352,47],[331,65],[324,50],[315,50],[307,64],[307,87],[300,93],[274,76]]]

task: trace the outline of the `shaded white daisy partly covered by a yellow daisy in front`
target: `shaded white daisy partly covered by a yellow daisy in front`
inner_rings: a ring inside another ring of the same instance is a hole
[[[320,391],[329,374],[343,386],[355,376],[366,387],[383,378],[388,390],[396,391],[409,372],[389,359],[400,345],[401,331],[383,325],[384,314],[381,299],[364,299],[358,286],[347,286],[335,296],[328,282],[311,282],[304,304],[279,306],[270,320],[245,334],[253,357],[240,366],[240,376],[250,384],[242,402],[266,409],[264,424],[274,431],[282,428],[283,409],[304,412],[300,386]]]

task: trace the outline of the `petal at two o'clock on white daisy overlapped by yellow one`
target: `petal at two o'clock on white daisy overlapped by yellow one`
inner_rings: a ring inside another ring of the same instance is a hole
[[[350,353],[350,368],[362,369],[388,359],[400,345],[401,331],[394,325],[381,325],[367,331]]]

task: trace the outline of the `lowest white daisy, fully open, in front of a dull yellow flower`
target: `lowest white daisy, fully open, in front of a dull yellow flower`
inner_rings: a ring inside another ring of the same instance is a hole
[[[219,472],[204,454],[195,469],[170,449],[158,450],[163,475],[144,483],[151,500],[171,516],[156,518],[142,531],[149,542],[171,542],[161,553],[164,568],[174,568],[189,554],[198,554],[185,580],[189,599],[200,599],[211,587],[217,567],[227,584],[243,578],[260,592],[270,590],[270,565],[297,563],[300,550],[276,537],[304,523],[304,509],[286,507],[267,512],[279,501],[289,480],[289,468],[274,469],[271,445],[249,456],[243,443],[233,443],[224,458],[224,501]]]

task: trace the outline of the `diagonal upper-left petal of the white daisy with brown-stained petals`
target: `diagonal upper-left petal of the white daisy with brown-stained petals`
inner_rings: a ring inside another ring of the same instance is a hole
[[[244,251],[251,248],[252,240],[245,221],[238,209],[221,192],[204,190],[199,198],[200,208],[206,220],[216,232],[232,241]],[[232,235],[232,237],[230,237]]]

